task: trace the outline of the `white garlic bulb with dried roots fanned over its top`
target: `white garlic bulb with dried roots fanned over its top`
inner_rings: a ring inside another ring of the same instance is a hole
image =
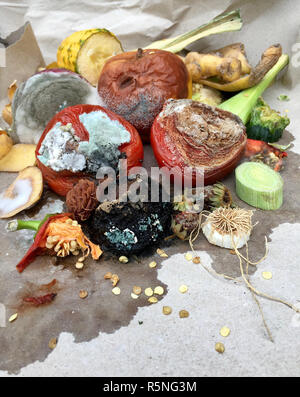
[[[202,225],[207,240],[222,248],[242,248],[250,238],[253,212],[240,208],[217,208]]]

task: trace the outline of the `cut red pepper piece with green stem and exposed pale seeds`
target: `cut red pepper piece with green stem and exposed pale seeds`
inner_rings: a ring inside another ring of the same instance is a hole
[[[47,216],[42,221],[11,221],[7,230],[32,229],[37,233],[32,246],[17,269],[21,273],[34,259],[43,254],[65,257],[81,251],[84,257],[91,253],[93,259],[99,259],[102,250],[99,245],[93,244],[83,233],[81,226],[74,220],[72,214],[58,214]]]

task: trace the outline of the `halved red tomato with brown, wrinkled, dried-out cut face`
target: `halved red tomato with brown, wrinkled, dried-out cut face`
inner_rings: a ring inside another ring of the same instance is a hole
[[[168,100],[151,129],[151,145],[160,167],[175,170],[183,178],[191,167],[196,186],[196,168],[210,185],[231,173],[243,156],[246,127],[231,112],[191,100]]]

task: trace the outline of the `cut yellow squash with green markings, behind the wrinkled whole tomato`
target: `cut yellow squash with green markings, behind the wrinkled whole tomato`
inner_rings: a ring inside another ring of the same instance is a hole
[[[81,74],[96,86],[105,61],[121,52],[120,41],[108,30],[80,30],[64,39],[58,47],[57,64]]]

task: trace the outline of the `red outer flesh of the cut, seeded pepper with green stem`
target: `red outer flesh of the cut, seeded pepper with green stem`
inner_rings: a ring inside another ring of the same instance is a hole
[[[46,240],[47,240],[46,230],[47,230],[49,223],[52,222],[53,220],[56,220],[56,219],[59,219],[59,218],[65,217],[65,216],[68,216],[69,218],[73,219],[72,214],[58,214],[58,215],[50,216],[48,219],[45,220],[45,222],[42,224],[42,226],[38,230],[32,246],[29,248],[29,250],[23,257],[23,259],[16,266],[20,273],[22,273],[22,271],[24,269],[26,269],[26,267],[31,262],[33,262],[37,256],[42,255],[44,253],[44,251],[47,249],[46,248]]]

